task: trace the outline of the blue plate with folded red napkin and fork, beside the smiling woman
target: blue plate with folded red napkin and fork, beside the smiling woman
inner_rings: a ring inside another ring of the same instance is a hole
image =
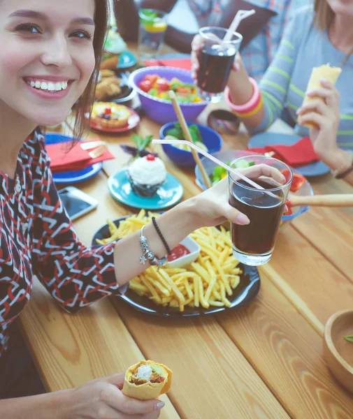
[[[101,170],[103,160],[114,159],[110,152],[92,159],[79,143],[68,152],[70,146],[67,143],[72,140],[67,135],[45,133],[45,149],[50,157],[52,178],[57,184],[72,184],[89,179]]]

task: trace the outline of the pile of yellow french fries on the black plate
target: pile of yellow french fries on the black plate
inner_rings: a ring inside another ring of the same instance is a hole
[[[121,239],[142,226],[152,222],[152,212],[141,210],[138,215],[130,216],[120,222],[117,228],[112,221],[107,221],[110,237],[97,240],[106,244]],[[145,272],[130,281],[130,288],[138,295],[143,295],[156,304],[164,307],[178,307],[184,311],[185,306],[230,307],[227,297],[240,282],[243,272],[238,267],[238,260],[231,250],[229,231],[222,226],[204,227],[194,231],[191,237],[199,243],[201,252],[194,263],[187,268],[161,267],[159,271],[150,266]]]

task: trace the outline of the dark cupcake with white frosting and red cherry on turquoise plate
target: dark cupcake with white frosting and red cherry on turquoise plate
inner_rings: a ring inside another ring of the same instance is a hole
[[[159,157],[148,154],[131,163],[127,169],[127,177],[136,195],[152,198],[166,182],[166,166]]]

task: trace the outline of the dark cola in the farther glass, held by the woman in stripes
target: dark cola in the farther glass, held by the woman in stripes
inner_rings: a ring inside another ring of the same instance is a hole
[[[205,45],[199,54],[198,87],[208,93],[224,91],[235,57],[236,47]]]

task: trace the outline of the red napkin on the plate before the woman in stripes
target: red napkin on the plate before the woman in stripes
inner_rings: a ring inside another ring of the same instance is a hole
[[[298,167],[319,161],[319,156],[312,147],[310,137],[303,137],[292,145],[266,145],[266,147],[252,147],[252,152],[268,153],[275,152],[275,157],[289,166]]]

